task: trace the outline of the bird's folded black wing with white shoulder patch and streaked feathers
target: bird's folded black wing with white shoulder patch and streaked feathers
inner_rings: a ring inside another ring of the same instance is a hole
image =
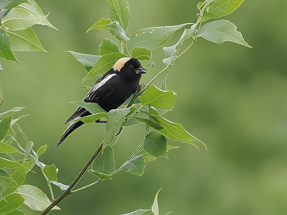
[[[106,72],[104,75],[102,75],[94,84],[92,89],[87,93],[87,95],[84,97],[83,102],[93,102],[97,103],[97,100],[99,98],[104,98],[108,94],[112,93],[115,90],[115,85],[112,84],[115,79],[117,79],[118,75],[112,72],[113,70],[110,70]],[[67,119],[66,123],[69,121],[74,120],[75,118],[83,115],[84,113],[88,112],[83,107],[78,107],[76,111]],[[65,124],[66,124],[65,123]]]

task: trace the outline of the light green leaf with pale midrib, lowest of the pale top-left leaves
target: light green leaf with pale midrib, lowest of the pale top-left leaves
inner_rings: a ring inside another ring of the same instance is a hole
[[[13,51],[47,52],[31,27],[20,31],[8,31],[8,33]]]

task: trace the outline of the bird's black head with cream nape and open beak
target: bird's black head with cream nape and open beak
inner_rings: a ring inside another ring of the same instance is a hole
[[[113,69],[124,73],[129,77],[134,75],[139,76],[147,73],[146,71],[148,71],[141,66],[141,63],[136,58],[121,58],[115,63]]]

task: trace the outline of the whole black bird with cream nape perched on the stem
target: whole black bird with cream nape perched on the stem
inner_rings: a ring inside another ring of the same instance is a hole
[[[136,58],[121,58],[105,74],[103,74],[87,93],[84,102],[98,103],[105,111],[117,109],[121,106],[139,87],[141,74],[147,73]],[[75,129],[83,125],[82,121],[74,122],[74,119],[91,115],[83,107],[67,119],[66,123],[72,121],[63,136],[55,146],[57,148]],[[65,124],[66,124],[65,123]]]

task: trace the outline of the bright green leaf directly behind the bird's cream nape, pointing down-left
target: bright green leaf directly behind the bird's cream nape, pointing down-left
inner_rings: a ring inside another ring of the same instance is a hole
[[[96,64],[93,66],[91,71],[86,75],[86,77],[82,80],[82,82],[90,78],[102,76],[104,73],[106,73],[113,67],[113,65],[117,62],[117,60],[124,57],[127,56],[121,53],[106,54],[101,56],[101,58],[96,62]]]

